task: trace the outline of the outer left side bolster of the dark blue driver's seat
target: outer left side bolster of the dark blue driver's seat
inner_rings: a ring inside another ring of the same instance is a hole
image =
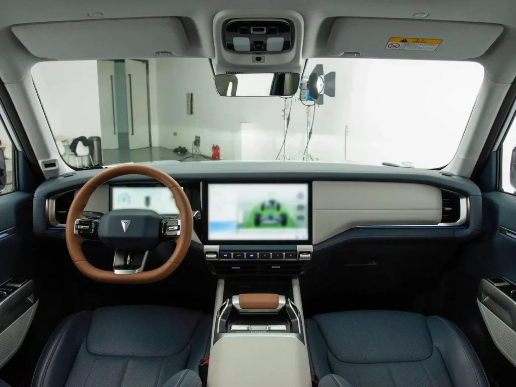
[[[32,387],[65,385],[77,352],[88,335],[91,315],[84,311],[61,321],[41,353]]]

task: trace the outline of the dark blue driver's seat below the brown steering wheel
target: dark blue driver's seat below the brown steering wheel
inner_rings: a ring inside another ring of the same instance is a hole
[[[197,387],[211,323],[198,311],[152,305],[76,313],[52,334],[32,386]]]

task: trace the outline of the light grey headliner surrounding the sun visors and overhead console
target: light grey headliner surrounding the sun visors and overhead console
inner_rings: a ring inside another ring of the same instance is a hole
[[[0,77],[5,83],[20,82],[35,62],[11,31],[23,23],[92,20],[88,12],[102,12],[104,19],[181,18],[190,51],[186,56],[211,57],[214,53],[213,19],[227,9],[288,9],[304,19],[303,58],[329,56],[326,50],[335,17],[413,19],[428,12],[429,20],[501,24],[504,32],[486,54],[476,60],[497,83],[512,83],[516,75],[516,1],[514,0],[1,0]],[[99,42],[102,44],[102,42]]]

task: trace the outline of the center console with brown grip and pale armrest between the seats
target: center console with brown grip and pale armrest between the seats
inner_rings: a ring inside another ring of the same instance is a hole
[[[218,301],[223,288],[219,280]],[[207,385],[312,385],[302,309],[293,300],[301,304],[297,280],[288,293],[237,294],[223,300],[214,318]]]

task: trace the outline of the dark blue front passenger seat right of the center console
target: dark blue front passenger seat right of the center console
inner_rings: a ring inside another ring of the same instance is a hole
[[[319,387],[488,387],[475,351],[441,317],[394,311],[316,315],[305,321]]]

